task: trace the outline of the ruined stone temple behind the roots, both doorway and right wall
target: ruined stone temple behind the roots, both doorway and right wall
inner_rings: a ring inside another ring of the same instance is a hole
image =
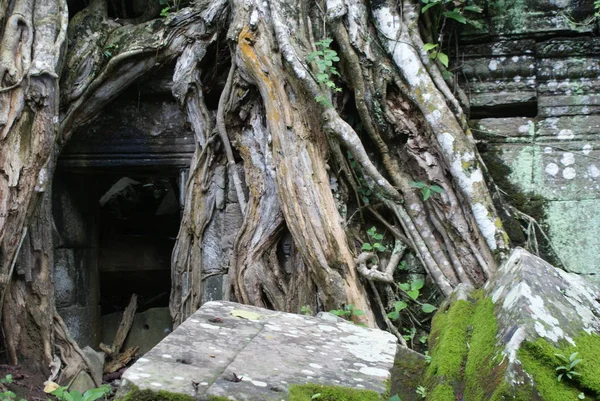
[[[554,261],[598,280],[600,30],[592,2],[488,3],[481,27],[462,33],[455,66],[473,133],[486,160],[510,168],[508,182],[525,203],[542,200],[544,213],[534,217]],[[127,90],[59,160],[56,302],[82,346],[110,343],[132,293],[141,306],[129,342],[149,350],[172,329],[170,254],[195,143],[169,74]],[[225,167],[217,171],[217,217],[203,244],[205,301],[224,297],[227,258],[217,255],[227,255],[242,220]]]

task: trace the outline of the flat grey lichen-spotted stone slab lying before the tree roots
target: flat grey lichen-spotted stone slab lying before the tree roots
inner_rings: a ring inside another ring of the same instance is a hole
[[[133,384],[199,400],[280,401],[290,385],[310,383],[386,394],[396,338],[327,315],[207,302],[123,374],[119,393]]]

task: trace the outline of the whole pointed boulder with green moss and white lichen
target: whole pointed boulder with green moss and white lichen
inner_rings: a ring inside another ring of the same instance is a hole
[[[485,288],[440,308],[432,401],[600,399],[600,288],[517,248]]]

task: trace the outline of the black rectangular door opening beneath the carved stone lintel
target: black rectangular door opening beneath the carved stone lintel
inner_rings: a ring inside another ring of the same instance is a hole
[[[167,307],[171,253],[180,224],[176,177],[101,176],[98,267],[102,314]]]

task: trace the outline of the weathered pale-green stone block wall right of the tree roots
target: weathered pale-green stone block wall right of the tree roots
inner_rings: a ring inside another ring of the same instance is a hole
[[[458,66],[474,133],[542,196],[566,267],[600,273],[600,39],[592,1],[489,1]]]

